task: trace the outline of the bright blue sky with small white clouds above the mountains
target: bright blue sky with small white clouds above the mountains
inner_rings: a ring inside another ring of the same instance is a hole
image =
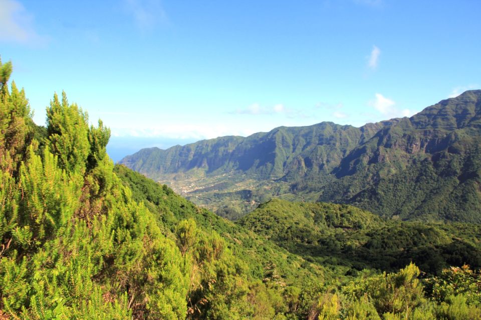
[[[0,0],[0,54],[111,156],[280,125],[363,125],[481,87],[481,1]]]

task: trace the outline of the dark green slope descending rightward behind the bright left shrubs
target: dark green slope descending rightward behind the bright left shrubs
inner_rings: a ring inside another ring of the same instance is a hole
[[[180,221],[193,219],[202,231],[218,233],[234,255],[243,257],[254,277],[262,278],[264,267],[271,263],[277,265],[283,281],[288,284],[312,277],[323,278],[324,272],[328,273],[327,277],[330,276],[329,270],[289,253],[272,241],[265,241],[249,229],[195,206],[165,184],[156,183],[123,165],[116,165],[114,172],[132,190],[132,197],[155,214],[165,233],[174,232]]]

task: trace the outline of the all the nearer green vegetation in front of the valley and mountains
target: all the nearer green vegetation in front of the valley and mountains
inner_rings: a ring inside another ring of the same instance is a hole
[[[233,223],[115,166],[110,130],[65,92],[35,124],[11,73],[0,62],[0,319],[481,318],[478,225],[280,200]]]

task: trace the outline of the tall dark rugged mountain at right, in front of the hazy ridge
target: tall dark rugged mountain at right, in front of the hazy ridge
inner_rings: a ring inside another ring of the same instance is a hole
[[[481,222],[481,90],[379,130],[333,170],[320,200],[403,219]]]

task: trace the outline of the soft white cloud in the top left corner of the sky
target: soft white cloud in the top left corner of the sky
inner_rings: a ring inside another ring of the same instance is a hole
[[[33,27],[34,17],[17,0],[0,0],[0,41],[43,44]]]

